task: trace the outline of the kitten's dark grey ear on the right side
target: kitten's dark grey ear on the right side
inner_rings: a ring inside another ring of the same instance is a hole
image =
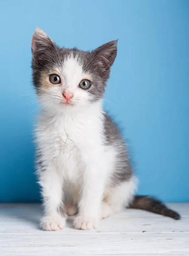
[[[110,68],[117,55],[117,41],[103,44],[92,52],[92,59],[95,66],[104,77],[109,76]]]

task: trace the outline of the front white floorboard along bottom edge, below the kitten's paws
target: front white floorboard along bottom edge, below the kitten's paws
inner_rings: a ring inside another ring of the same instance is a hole
[[[1,236],[0,252],[59,255],[189,255],[189,237],[181,234],[49,232]],[[168,254],[169,253],[169,254]],[[171,254],[172,253],[172,254]],[[181,254],[179,254],[181,253]],[[30,255],[29,254],[29,255]]]

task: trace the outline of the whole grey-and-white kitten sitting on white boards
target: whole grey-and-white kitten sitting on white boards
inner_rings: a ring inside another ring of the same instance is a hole
[[[31,44],[33,83],[43,109],[35,131],[43,230],[60,230],[67,215],[76,229],[124,207],[179,219],[160,201],[135,196],[136,178],[126,145],[103,111],[103,93],[117,55],[117,41],[92,52],[58,47],[41,29]]]

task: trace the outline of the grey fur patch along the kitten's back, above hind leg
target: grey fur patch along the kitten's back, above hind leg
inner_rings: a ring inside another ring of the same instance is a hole
[[[108,114],[105,114],[104,132],[105,143],[107,145],[112,145],[118,152],[115,163],[115,172],[112,175],[111,180],[111,185],[114,187],[124,181],[130,180],[133,175],[133,170],[129,161],[126,143],[121,137],[118,126],[113,122]]]

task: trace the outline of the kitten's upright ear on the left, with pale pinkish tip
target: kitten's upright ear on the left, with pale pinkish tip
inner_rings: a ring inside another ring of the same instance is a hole
[[[49,38],[42,29],[36,28],[31,41],[32,54],[40,54],[40,52],[43,52],[49,47],[54,47],[54,43],[51,38]]]

